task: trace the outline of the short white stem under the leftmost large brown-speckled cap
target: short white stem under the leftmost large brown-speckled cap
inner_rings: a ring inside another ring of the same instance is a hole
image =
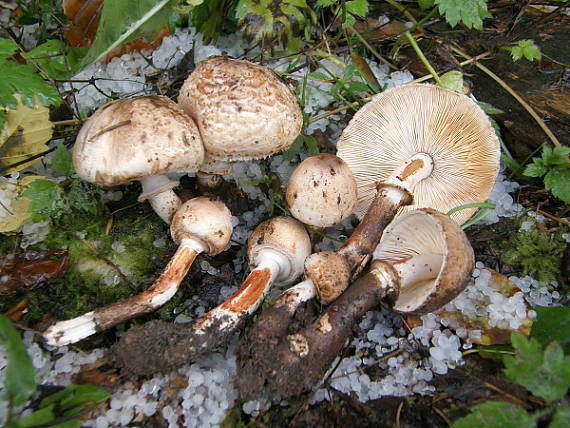
[[[172,216],[178,210],[182,202],[178,195],[172,190],[180,183],[170,180],[166,175],[152,175],[140,178],[142,193],[138,198],[139,202],[148,199],[152,209],[170,224]]]

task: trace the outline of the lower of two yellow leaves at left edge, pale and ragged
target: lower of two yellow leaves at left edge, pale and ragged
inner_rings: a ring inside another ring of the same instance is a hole
[[[31,217],[28,212],[30,200],[22,196],[22,192],[28,185],[38,178],[45,178],[39,175],[31,175],[18,180],[16,183],[9,182],[8,179],[0,178],[0,191],[7,189],[17,193],[12,203],[8,206],[0,204],[0,233],[19,232],[26,220]]]

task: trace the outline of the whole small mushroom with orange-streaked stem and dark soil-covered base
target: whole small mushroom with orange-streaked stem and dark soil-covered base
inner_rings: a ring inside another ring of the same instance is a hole
[[[115,364],[135,375],[170,371],[225,345],[272,284],[289,285],[303,273],[310,251],[309,236],[296,220],[275,217],[261,223],[247,245],[253,269],[228,300],[191,327],[151,321],[131,328],[113,347]]]

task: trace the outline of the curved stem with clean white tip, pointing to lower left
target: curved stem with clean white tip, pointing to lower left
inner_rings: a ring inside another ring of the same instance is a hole
[[[164,272],[150,288],[126,300],[53,324],[43,335],[46,343],[52,346],[69,345],[123,321],[156,310],[176,294],[194,259],[205,250],[200,240],[182,239]]]

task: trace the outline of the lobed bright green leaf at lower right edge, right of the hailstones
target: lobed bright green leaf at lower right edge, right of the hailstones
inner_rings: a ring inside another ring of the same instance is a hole
[[[505,374],[537,397],[552,402],[562,398],[570,387],[570,357],[561,346],[551,342],[543,351],[536,339],[511,335],[515,356],[505,356]]]

